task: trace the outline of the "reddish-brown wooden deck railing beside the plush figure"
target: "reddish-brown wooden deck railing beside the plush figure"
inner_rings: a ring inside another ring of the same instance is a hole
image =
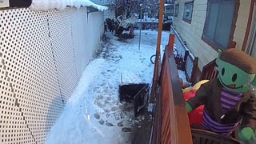
[[[173,55],[174,34],[166,46],[156,90],[152,144],[192,144],[182,86]]]

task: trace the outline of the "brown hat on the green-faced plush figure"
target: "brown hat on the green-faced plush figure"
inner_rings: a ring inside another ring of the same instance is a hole
[[[248,74],[256,74],[256,59],[238,49],[228,49],[222,51],[220,59],[231,65],[237,66]]]

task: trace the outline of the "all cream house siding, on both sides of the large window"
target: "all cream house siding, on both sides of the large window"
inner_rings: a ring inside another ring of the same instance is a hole
[[[199,58],[198,67],[202,67],[217,57],[217,51],[202,41],[202,32],[206,21],[207,0],[194,0],[194,8],[191,24],[182,20],[185,2],[190,0],[178,0],[179,3],[178,18],[174,18],[174,28],[178,31],[181,38],[186,41],[191,52]],[[246,26],[250,10],[249,0],[240,0],[240,9],[238,11],[237,26],[234,32],[234,42],[237,47],[242,47],[243,38],[246,32]]]

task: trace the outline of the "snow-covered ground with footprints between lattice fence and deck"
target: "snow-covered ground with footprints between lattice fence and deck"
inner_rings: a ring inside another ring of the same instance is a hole
[[[142,30],[138,50],[138,30],[133,39],[118,41],[107,34],[107,42],[98,57],[84,70],[74,94],[52,127],[46,144],[121,144],[130,142],[130,131],[144,119],[134,118],[133,106],[119,102],[122,82],[152,82],[158,32]],[[162,32],[162,46],[169,32]]]

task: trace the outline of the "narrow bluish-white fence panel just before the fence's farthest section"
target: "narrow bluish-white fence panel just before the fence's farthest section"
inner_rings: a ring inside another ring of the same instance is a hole
[[[75,54],[75,62],[77,66],[78,78],[82,76],[83,70],[85,70],[86,65],[90,61],[90,56],[88,54],[88,42],[86,38],[88,37],[88,31],[86,31],[87,24],[87,13],[86,7],[81,7],[80,9],[71,8],[71,27],[72,27],[72,38],[73,47]],[[87,37],[86,37],[87,36]]]

